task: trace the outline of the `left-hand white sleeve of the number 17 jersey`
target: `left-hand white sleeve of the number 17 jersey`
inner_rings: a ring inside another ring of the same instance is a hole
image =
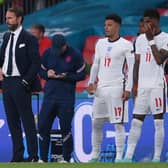
[[[97,75],[98,75],[98,71],[99,71],[99,61],[100,57],[99,57],[99,42],[96,43],[95,46],[95,57],[94,57],[94,61],[91,67],[91,71],[90,71],[90,79],[88,82],[89,84],[94,84],[96,82],[97,79]]]

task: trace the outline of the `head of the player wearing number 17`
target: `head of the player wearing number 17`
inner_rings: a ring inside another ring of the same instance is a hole
[[[105,33],[108,37],[119,35],[121,26],[121,17],[115,13],[109,14],[105,17]]]

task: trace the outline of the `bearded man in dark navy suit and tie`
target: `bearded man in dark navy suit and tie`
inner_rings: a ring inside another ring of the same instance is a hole
[[[11,162],[38,160],[38,146],[31,92],[40,89],[37,73],[40,68],[38,42],[22,27],[23,10],[9,8],[5,33],[0,50],[0,80],[2,81],[3,102],[11,132],[13,157]],[[24,127],[29,157],[25,160],[22,125]]]

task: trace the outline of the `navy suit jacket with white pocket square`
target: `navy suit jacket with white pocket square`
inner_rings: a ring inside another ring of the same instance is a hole
[[[5,33],[3,43],[0,50],[0,67],[2,68],[5,59],[5,49],[8,44],[10,33]],[[37,39],[24,29],[21,30],[16,42],[15,48],[16,65],[21,74],[21,78],[25,79],[31,91],[40,91],[41,85],[38,78],[40,69],[40,55]]]

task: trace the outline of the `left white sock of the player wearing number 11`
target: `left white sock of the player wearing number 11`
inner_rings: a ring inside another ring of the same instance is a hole
[[[137,144],[139,137],[141,135],[142,124],[143,124],[143,122],[138,119],[134,118],[132,120],[131,129],[130,129],[130,133],[128,136],[128,146],[127,146],[127,151],[125,154],[125,159],[132,159],[133,158],[136,144]]]

